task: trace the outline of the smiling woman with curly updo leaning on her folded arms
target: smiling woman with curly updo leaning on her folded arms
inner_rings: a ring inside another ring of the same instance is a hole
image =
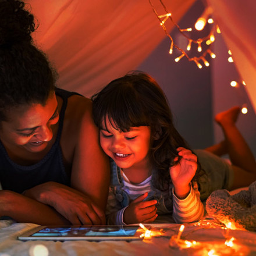
[[[0,216],[104,224],[109,168],[91,101],[55,87],[22,1],[0,0],[0,15]]]

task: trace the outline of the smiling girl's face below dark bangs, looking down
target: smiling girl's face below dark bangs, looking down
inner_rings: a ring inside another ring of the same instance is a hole
[[[123,170],[148,168],[150,149],[150,127],[131,127],[130,131],[116,130],[109,119],[102,122],[100,130],[101,147]]]

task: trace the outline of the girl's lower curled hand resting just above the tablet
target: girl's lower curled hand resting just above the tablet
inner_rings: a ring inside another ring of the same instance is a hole
[[[148,193],[140,195],[125,209],[123,221],[126,224],[151,223],[157,218],[157,200],[143,201]]]

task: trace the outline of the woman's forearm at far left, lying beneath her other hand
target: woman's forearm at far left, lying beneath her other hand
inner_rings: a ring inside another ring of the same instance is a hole
[[[0,191],[0,216],[39,225],[70,225],[51,207],[9,190]]]

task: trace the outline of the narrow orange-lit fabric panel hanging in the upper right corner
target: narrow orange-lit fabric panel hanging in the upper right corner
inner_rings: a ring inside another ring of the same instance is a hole
[[[256,1],[208,0],[256,112]]]

